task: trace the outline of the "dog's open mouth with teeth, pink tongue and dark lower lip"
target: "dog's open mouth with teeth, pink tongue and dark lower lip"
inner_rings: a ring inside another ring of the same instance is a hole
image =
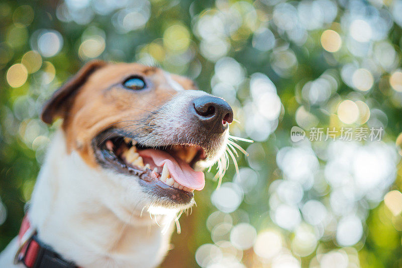
[[[207,157],[200,146],[171,144],[153,147],[113,129],[97,135],[92,145],[101,165],[138,176],[151,194],[170,198],[175,203],[188,203],[194,190],[204,188],[204,173],[193,169],[198,161]]]

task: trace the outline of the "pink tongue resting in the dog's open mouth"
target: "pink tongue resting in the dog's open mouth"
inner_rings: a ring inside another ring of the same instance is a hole
[[[175,159],[170,154],[160,150],[146,149],[138,151],[142,157],[150,157],[157,166],[167,164],[169,173],[174,180],[182,186],[195,190],[203,190],[205,176],[201,171],[194,171],[186,162]]]

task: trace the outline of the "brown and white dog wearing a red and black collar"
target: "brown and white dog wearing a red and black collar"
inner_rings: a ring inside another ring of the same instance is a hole
[[[157,266],[203,170],[222,165],[233,111],[188,78],[94,60],[41,118],[63,122],[3,268]]]

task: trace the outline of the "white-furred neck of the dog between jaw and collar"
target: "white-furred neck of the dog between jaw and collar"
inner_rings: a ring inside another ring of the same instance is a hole
[[[78,265],[156,266],[168,249],[176,211],[142,215],[142,200],[128,199],[111,177],[87,166],[78,153],[67,153],[58,131],[34,189],[31,224],[40,239]]]

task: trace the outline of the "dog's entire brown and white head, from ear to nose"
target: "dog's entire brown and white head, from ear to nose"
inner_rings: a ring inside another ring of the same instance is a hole
[[[224,153],[231,107],[184,77],[136,63],[87,63],[45,105],[63,118],[69,152],[124,175],[144,202],[186,208],[205,185],[202,170]],[[125,182],[127,184],[127,182]]]

